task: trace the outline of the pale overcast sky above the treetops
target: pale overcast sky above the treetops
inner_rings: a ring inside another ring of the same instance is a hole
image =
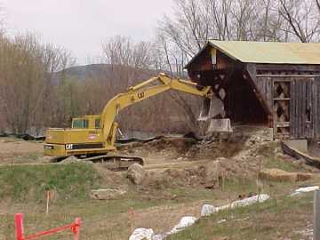
[[[35,32],[68,48],[78,63],[100,55],[110,36],[150,40],[172,0],[0,0],[11,33]]]

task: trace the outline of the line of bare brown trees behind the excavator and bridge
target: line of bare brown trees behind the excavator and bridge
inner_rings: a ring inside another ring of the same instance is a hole
[[[63,47],[33,34],[0,31],[0,130],[65,127],[70,116],[99,114],[116,93],[160,71],[186,77],[184,66],[209,39],[318,42],[319,0],[174,0],[155,37],[133,42],[114,36],[101,45],[104,67],[83,81]],[[118,117],[128,131],[186,132],[197,127],[200,100],[168,92],[128,108]],[[148,116],[148,117],[147,117]]]

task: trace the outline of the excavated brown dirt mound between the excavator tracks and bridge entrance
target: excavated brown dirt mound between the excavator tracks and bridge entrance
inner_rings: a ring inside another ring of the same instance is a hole
[[[148,188],[219,188],[222,178],[255,179],[263,168],[314,172],[308,165],[295,164],[297,162],[292,161],[292,157],[285,156],[280,142],[266,140],[259,135],[227,133],[220,134],[219,139],[202,141],[164,138],[142,144],[134,150],[160,153],[171,159],[159,168],[153,169],[153,164],[148,165],[148,176],[143,183]],[[300,180],[305,179],[304,175],[301,176]]]

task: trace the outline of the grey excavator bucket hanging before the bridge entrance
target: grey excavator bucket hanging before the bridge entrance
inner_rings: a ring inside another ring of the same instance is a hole
[[[229,118],[224,118],[226,112],[223,101],[215,95],[212,98],[203,100],[198,121],[209,122],[207,132],[232,132],[232,127]]]

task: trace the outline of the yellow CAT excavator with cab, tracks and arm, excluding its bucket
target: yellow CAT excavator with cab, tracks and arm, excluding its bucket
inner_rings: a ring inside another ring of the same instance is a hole
[[[210,86],[160,74],[116,95],[108,101],[101,115],[75,117],[68,129],[48,129],[44,155],[53,156],[58,162],[68,156],[76,156],[86,161],[109,164],[108,168],[112,170],[124,170],[134,163],[143,164],[140,157],[116,156],[116,115],[121,109],[169,90],[187,92],[209,100],[212,97]]]

